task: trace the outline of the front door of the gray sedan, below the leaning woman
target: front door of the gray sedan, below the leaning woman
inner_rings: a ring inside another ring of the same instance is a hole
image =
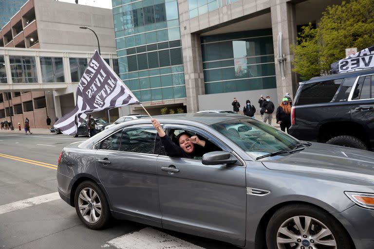
[[[197,133],[230,151],[201,129],[165,127]],[[160,155],[157,174],[163,228],[244,246],[246,185],[245,167],[240,161],[231,166],[204,165],[201,160]]]

